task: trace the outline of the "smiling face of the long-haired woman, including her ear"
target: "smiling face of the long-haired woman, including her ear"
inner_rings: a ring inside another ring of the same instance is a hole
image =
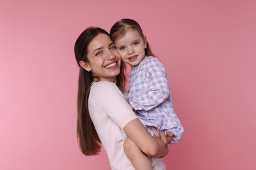
[[[115,82],[120,73],[121,59],[114,42],[104,33],[98,34],[88,46],[88,62],[80,65],[91,71],[99,81]]]

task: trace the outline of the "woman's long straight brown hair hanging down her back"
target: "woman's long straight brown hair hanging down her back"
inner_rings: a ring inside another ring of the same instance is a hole
[[[79,35],[75,41],[75,59],[79,66],[79,80],[77,92],[77,140],[81,152],[85,155],[96,155],[100,152],[101,144],[95,126],[90,118],[88,109],[88,98],[90,95],[90,88],[95,77],[91,72],[85,71],[79,65],[79,61],[89,62],[87,58],[87,48],[96,35],[104,33],[108,36],[108,32],[100,27],[88,27]],[[121,72],[116,77],[116,85],[121,90],[125,91],[125,64],[121,62]],[[91,113],[93,114],[93,113]]]

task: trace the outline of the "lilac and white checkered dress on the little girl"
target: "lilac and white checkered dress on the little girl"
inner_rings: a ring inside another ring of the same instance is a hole
[[[137,110],[140,122],[150,135],[150,126],[174,134],[171,143],[178,143],[184,129],[175,111],[165,68],[157,58],[148,56],[131,69],[128,101]]]

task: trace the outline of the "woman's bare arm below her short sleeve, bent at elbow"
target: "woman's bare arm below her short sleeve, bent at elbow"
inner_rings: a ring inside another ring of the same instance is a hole
[[[165,144],[160,139],[151,137],[139,119],[131,120],[123,129],[146,155],[159,158],[168,154]]]

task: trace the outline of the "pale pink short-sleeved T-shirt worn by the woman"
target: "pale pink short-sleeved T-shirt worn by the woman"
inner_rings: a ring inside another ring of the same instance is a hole
[[[123,127],[137,118],[116,84],[107,81],[95,82],[89,95],[89,112],[98,137],[104,147],[113,170],[134,170],[125,156],[123,143],[126,135]],[[156,170],[165,169],[159,158],[152,158]]]

